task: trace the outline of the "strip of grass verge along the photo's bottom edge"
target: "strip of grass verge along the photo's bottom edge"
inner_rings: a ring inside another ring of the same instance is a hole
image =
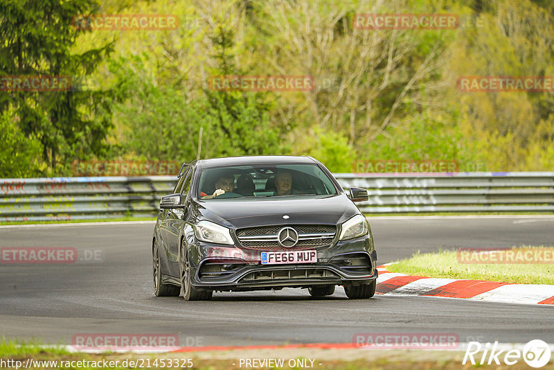
[[[318,360],[318,353],[309,353],[308,356],[287,356],[281,353],[270,353],[266,350],[259,353],[236,353],[237,358],[234,358],[231,353],[161,353],[149,355],[137,355],[133,353],[102,353],[102,354],[87,354],[87,353],[69,353],[62,349],[45,348],[40,344],[21,343],[15,341],[0,340],[0,359],[3,362],[10,360],[12,363],[8,366],[3,366],[3,369],[25,369],[25,370],[44,370],[44,369],[110,369],[110,370],[127,370],[146,368],[139,364],[150,364],[148,369],[200,369],[200,370],[239,370],[239,369],[305,369],[305,367],[289,367],[289,359],[306,360],[312,358],[314,360],[314,369],[318,370],[429,370],[429,369],[475,369],[470,364],[462,365],[461,356],[463,353],[453,353],[452,351],[360,351],[363,354],[362,358],[352,358],[350,360]],[[321,354],[321,353],[319,353]],[[343,356],[341,356],[343,357]],[[365,357],[365,358],[363,358]],[[245,367],[240,365],[240,358],[258,358],[260,360],[267,358],[283,358],[285,364],[283,367]],[[346,356],[348,358],[348,356]],[[28,359],[29,367],[25,367]],[[193,367],[183,366],[188,364],[186,359],[190,359]],[[154,362],[158,360],[159,362]],[[177,361],[176,361],[177,360]],[[17,365],[13,362],[18,361]],[[37,364],[37,361],[49,361]],[[55,364],[53,363],[55,361]],[[103,362],[105,361],[105,362]],[[161,362],[165,362],[161,365]],[[81,363],[78,363],[81,362]],[[96,362],[96,365],[91,362]],[[111,362],[114,364],[106,364]],[[134,366],[130,363],[134,362]],[[171,364],[170,364],[171,363]],[[177,366],[172,364],[177,363]],[[306,362],[310,364],[310,362]],[[157,364],[157,366],[152,366]],[[312,367],[308,365],[307,367]],[[506,369],[505,364],[501,365],[481,365],[480,369]],[[523,361],[510,366],[510,370],[528,369]]]

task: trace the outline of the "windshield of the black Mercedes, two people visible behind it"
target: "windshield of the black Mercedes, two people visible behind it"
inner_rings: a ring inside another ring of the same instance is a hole
[[[206,168],[198,186],[202,200],[301,195],[337,195],[337,188],[315,164]]]

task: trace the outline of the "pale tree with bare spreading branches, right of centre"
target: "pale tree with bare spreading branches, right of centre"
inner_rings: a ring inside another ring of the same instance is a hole
[[[305,104],[288,104],[292,116],[341,132],[357,150],[410,114],[406,102],[416,109],[425,103],[420,87],[436,80],[449,39],[440,30],[353,27],[357,12],[416,12],[413,1],[282,0],[258,7],[258,24],[268,40],[260,44],[260,53],[269,65],[316,80],[316,89],[304,95]],[[428,85],[427,95],[439,90]]]

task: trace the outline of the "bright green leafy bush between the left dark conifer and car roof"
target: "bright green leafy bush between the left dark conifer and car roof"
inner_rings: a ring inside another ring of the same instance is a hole
[[[157,86],[144,71],[139,57],[111,64],[111,72],[120,76],[114,87],[120,97],[114,105],[114,119],[123,127],[119,155],[152,161],[195,159],[205,111],[190,105],[183,91]]]

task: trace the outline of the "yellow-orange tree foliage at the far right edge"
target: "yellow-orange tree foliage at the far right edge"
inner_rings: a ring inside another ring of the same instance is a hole
[[[481,27],[460,30],[452,43],[449,72],[552,76],[553,14],[528,0],[495,1],[491,6],[480,16]],[[446,97],[460,107],[461,131],[490,170],[552,170],[553,94],[452,91]]]

